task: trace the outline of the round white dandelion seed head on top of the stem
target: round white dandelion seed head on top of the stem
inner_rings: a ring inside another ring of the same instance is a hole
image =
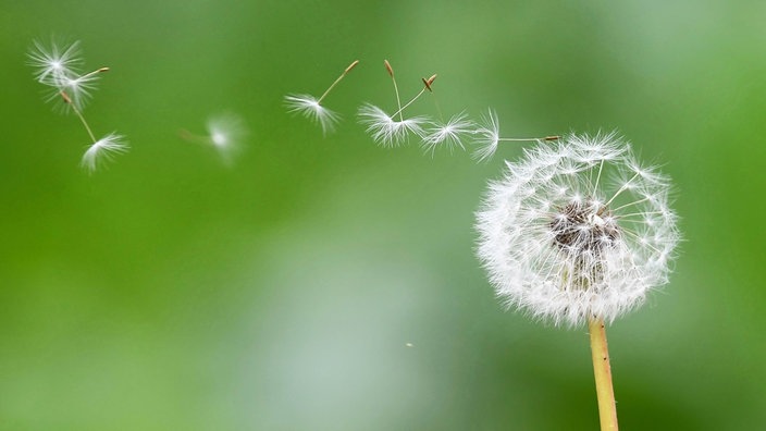
[[[477,213],[506,305],[556,325],[611,322],[667,283],[680,239],[669,180],[614,133],[541,143],[507,168]]]

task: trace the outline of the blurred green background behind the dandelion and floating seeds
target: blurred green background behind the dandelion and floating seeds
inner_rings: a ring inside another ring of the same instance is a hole
[[[591,430],[588,334],[505,311],[473,255],[503,159],[378,147],[437,73],[504,135],[617,128],[677,185],[671,283],[608,330],[625,429],[766,427],[763,1],[0,0],[0,429]],[[88,175],[26,52],[112,70]],[[326,137],[288,93],[345,116]],[[424,99],[416,111],[433,114]],[[232,167],[178,138],[248,124]]]

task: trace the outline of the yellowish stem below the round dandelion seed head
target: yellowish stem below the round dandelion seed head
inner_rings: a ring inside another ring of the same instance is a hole
[[[611,385],[611,367],[609,366],[604,320],[590,318],[588,329],[591,333],[591,357],[596,380],[601,429],[602,431],[617,431],[617,407],[615,406],[615,390]]]

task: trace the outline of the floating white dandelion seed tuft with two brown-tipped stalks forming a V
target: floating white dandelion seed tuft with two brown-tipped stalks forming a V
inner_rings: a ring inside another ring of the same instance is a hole
[[[411,98],[407,103],[401,106],[401,99],[399,98],[399,87],[396,84],[396,77],[394,75],[394,69],[388,63],[388,60],[384,60],[383,64],[385,70],[388,72],[392,82],[394,83],[394,93],[396,95],[396,106],[398,110],[392,115],[388,115],[381,108],[378,108],[371,103],[365,103],[359,108],[359,122],[367,126],[367,132],[372,135],[372,139],[383,147],[396,147],[407,141],[410,134],[415,134],[420,138],[423,138],[424,131],[423,125],[428,121],[425,116],[412,116],[405,119],[404,111],[410,104],[415,103],[420,96],[425,93],[425,90],[431,90],[431,85],[436,75],[432,75],[430,78],[423,78],[423,88],[413,98]],[[398,120],[395,120],[398,116]]]

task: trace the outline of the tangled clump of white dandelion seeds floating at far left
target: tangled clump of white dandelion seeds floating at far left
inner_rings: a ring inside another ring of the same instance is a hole
[[[92,144],[88,146],[81,160],[84,169],[92,173],[114,155],[127,151],[127,141],[116,133],[96,139],[96,135],[83,115],[83,108],[96,88],[96,81],[101,73],[108,72],[109,67],[99,67],[82,74],[77,69],[83,62],[78,41],[63,46],[51,41],[50,47],[35,41],[28,58],[29,65],[35,67],[35,79],[50,87],[47,101],[62,101],[63,110],[74,112],[90,137]]]

